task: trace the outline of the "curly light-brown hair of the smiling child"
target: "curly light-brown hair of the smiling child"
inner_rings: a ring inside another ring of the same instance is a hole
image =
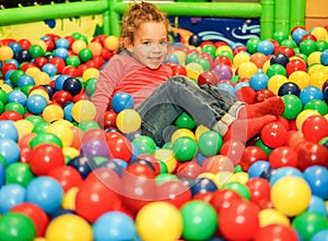
[[[148,22],[163,23],[168,32],[166,14],[159,10],[157,7],[149,2],[133,2],[129,5],[128,11],[122,16],[121,38],[129,39],[133,43],[134,32],[142,23]]]

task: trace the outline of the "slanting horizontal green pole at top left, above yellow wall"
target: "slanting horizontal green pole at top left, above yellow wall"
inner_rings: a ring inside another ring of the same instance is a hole
[[[0,26],[24,24],[50,19],[103,14],[106,1],[67,2],[0,10]]]

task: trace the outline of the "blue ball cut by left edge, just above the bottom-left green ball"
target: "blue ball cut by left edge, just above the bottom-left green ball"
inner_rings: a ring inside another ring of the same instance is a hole
[[[9,183],[0,189],[0,213],[8,213],[13,206],[25,201],[24,186]]]

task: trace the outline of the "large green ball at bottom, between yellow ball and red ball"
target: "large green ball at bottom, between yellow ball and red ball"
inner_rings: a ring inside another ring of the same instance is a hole
[[[218,229],[218,214],[214,207],[203,201],[194,200],[180,208],[185,240],[209,240]]]

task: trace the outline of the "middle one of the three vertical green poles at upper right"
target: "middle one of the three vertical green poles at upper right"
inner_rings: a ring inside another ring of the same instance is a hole
[[[274,31],[290,33],[291,0],[276,0]]]

